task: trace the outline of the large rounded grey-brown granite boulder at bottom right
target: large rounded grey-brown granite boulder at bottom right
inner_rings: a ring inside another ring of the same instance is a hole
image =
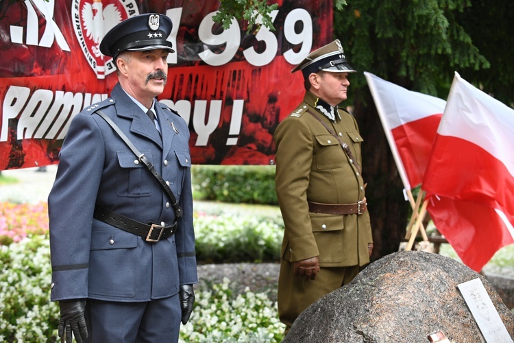
[[[484,276],[448,257],[401,251],[310,305],[283,342],[429,342],[438,331],[452,342],[485,342],[456,287],[476,278],[514,337],[514,314]]]

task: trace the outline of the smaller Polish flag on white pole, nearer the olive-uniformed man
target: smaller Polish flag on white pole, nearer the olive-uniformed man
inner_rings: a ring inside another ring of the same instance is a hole
[[[406,190],[423,180],[446,102],[364,72]]]

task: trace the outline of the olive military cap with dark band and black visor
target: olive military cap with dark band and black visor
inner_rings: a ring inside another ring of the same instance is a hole
[[[343,46],[339,39],[327,44],[308,54],[308,56],[300,62],[292,71],[301,70],[304,78],[308,78],[310,73],[318,71],[346,72],[355,73],[356,70],[348,64],[344,55]]]

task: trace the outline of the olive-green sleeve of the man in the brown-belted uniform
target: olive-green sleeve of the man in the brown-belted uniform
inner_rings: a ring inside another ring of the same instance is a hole
[[[301,119],[287,117],[275,132],[275,143],[276,191],[291,261],[318,256],[307,204],[313,136]]]

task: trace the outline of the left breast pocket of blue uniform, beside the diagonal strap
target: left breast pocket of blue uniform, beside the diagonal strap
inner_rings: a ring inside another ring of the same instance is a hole
[[[143,151],[149,161],[152,161],[151,152]],[[116,193],[118,196],[141,197],[151,196],[150,171],[138,161],[130,151],[117,152],[119,173],[116,175]]]

